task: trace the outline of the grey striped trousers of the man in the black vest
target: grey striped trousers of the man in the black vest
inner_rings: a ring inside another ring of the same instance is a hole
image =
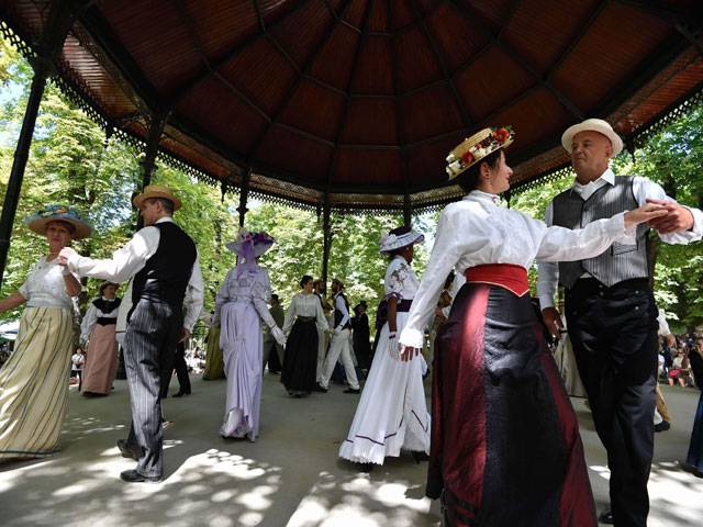
[[[160,378],[164,367],[172,365],[182,326],[181,306],[140,299],[124,335],[132,406],[127,444],[141,452],[136,471],[142,475],[160,478],[164,473]]]

